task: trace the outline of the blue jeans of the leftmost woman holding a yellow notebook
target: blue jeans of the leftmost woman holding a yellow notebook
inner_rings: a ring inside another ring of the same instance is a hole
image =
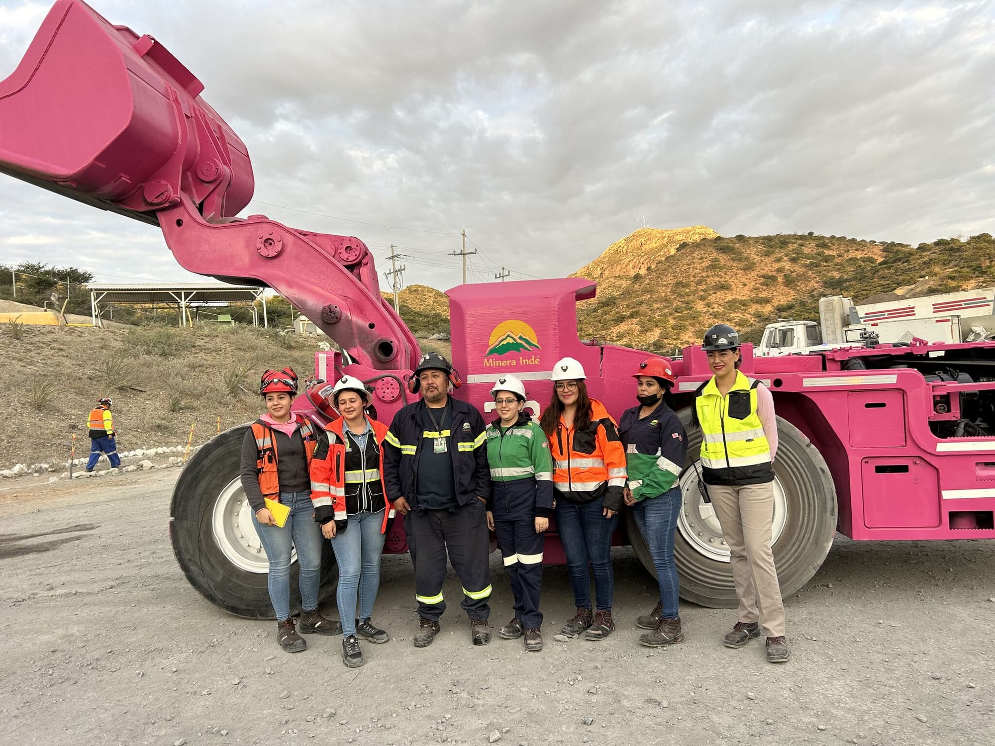
[[[280,501],[291,508],[284,527],[264,526],[256,520],[259,540],[270,560],[270,601],[277,619],[283,622],[291,616],[291,542],[298,550],[298,585],[300,606],[305,611],[317,609],[317,589],[321,585],[321,526],[312,517],[314,506],[310,492],[281,492]]]

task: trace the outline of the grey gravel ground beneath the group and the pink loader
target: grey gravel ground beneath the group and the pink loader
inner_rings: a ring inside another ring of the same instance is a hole
[[[553,642],[572,608],[551,567],[541,653],[474,648],[455,604],[415,650],[411,566],[387,557],[374,620],[393,640],[350,670],[337,638],[282,653],[274,623],[228,616],[186,583],[167,533],[176,475],[0,490],[0,742],[995,742],[993,542],[840,538],[786,599],[794,658],[781,666],[756,642],[724,649],[732,613],[691,605],[683,645],[640,648],[634,619],[655,586],[628,549],[615,550],[619,629],[602,644]],[[459,598],[455,577],[445,593]]]

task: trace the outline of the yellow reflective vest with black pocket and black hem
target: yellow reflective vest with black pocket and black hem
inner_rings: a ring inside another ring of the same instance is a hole
[[[756,408],[759,384],[736,371],[736,382],[725,396],[714,376],[698,390],[695,409],[706,484],[761,484],[774,478],[770,444]]]

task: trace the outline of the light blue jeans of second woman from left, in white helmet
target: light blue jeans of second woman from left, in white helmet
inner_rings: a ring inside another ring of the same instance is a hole
[[[344,531],[331,540],[338,562],[338,618],[342,621],[342,636],[356,634],[356,620],[373,614],[373,602],[380,588],[380,557],[387,535],[380,533],[383,510],[361,512],[348,516]],[[356,616],[356,588],[359,589],[359,616]]]

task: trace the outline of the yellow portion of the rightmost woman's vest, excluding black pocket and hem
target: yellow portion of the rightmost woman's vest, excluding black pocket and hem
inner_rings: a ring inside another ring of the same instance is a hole
[[[770,462],[770,445],[756,408],[755,379],[736,371],[736,381],[722,396],[714,377],[697,397],[697,421],[701,425],[701,465],[708,468],[756,466]],[[749,413],[743,419],[729,417],[729,396],[736,392],[749,396]]]

